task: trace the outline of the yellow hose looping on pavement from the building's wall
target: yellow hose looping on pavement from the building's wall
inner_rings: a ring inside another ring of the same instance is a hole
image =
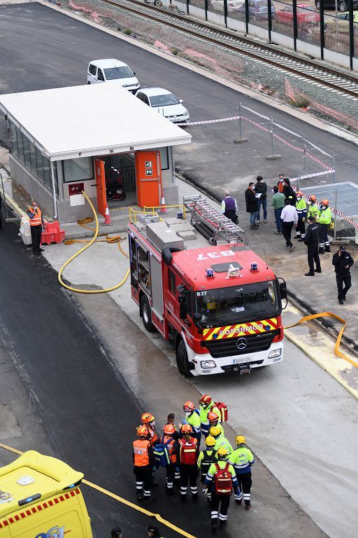
[[[90,198],[88,198],[87,194],[84,191],[82,191],[82,194],[85,195],[85,198],[86,198],[87,202],[90,204],[90,207],[91,207],[92,212],[94,214],[94,220],[96,221],[96,229],[94,230],[93,228],[90,228],[89,226],[86,226],[87,223],[93,221],[93,219],[91,219],[91,217],[87,217],[87,219],[83,219],[83,221],[81,221],[81,223],[82,223],[81,226],[84,226],[85,228],[88,228],[89,230],[92,230],[94,232],[94,236],[92,237],[92,239],[90,241],[88,241],[88,242],[86,241],[85,246],[82,247],[78,252],[76,252],[76,254],[73,254],[73,256],[71,256],[71,258],[69,258],[67,261],[65,261],[64,265],[62,265],[62,268],[59,270],[58,279],[59,279],[59,283],[64,288],[69,289],[70,291],[76,291],[76,293],[78,293],[78,294],[104,294],[104,293],[106,293],[108,291],[114,291],[115,289],[120,288],[122,286],[122,284],[124,284],[124,282],[128,278],[129,269],[127,270],[126,274],[124,275],[123,280],[121,280],[121,282],[119,284],[115,284],[115,286],[112,286],[110,288],[105,288],[105,289],[78,289],[78,288],[74,288],[72,286],[68,286],[62,280],[62,273],[64,272],[64,269],[67,267],[67,265],[69,265],[69,263],[71,263],[71,261],[73,261],[75,258],[77,258],[77,256],[80,256],[80,254],[82,254],[86,249],[90,248],[90,246],[96,241],[96,238],[99,235],[99,221],[98,221],[98,217],[97,217],[97,214],[96,214],[96,210],[94,209],[93,204],[92,204]],[[70,241],[71,242],[83,242],[83,241],[77,241],[77,240],[69,240],[69,242]],[[118,248],[120,249],[122,254],[124,254],[124,256],[127,256],[127,258],[129,258],[128,254],[126,254],[123,251],[123,249],[122,249],[122,247],[120,245],[121,237],[119,235],[117,235],[116,237],[106,237],[105,241],[107,241],[108,243],[117,242]],[[69,242],[67,244],[69,244]]]

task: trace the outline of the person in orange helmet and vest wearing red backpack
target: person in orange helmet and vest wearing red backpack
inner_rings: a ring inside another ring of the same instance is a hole
[[[198,441],[195,439],[193,429],[189,424],[184,424],[180,428],[182,439],[179,439],[179,469],[180,469],[180,502],[187,502],[187,483],[189,481],[192,491],[193,502],[198,502],[198,488],[196,479],[198,477]]]

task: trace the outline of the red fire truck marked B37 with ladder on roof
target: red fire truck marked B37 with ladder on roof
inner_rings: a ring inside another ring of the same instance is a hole
[[[185,206],[190,220],[147,214],[129,223],[131,296],[145,329],[169,341],[182,375],[282,361],[285,281],[207,200]]]

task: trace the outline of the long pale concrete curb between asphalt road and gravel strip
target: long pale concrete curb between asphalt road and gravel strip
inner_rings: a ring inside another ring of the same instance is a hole
[[[217,83],[227,86],[227,88],[231,88],[232,90],[236,90],[237,92],[243,93],[244,95],[248,95],[249,97],[252,97],[253,99],[257,99],[257,101],[261,103],[265,103],[268,106],[272,106],[273,109],[284,111],[290,116],[297,118],[301,121],[304,121],[305,123],[308,123],[309,125],[314,125],[318,129],[324,130],[326,132],[328,131],[332,135],[343,138],[345,140],[348,140],[348,142],[353,142],[354,144],[358,145],[358,136],[353,135],[348,130],[343,129],[343,127],[338,127],[338,125],[334,125],[334,123],[330,123],[329,121],[315,118],[315,116],[310,116],[308,113],[303,112],[301,110],[297,110],[293,106],[290,106],[289,104],[286,104],[285,102],[279,101],[278,99],[274,99],[273,97],[269,97],[268,95],[265,95],[264,93],[259,92],[257,90],[252,90],[252,88],[249,88],[248,86],[245,86],[243,84],[239,84],[239,83],[230,81],[229,79],[224,78],[222,76],[216,75],[212,73],[211,71],[209,71],[208,69],[199,67],[196,64],[192,64],[191,62],[189,62],[189,60],[184,60],[170,53],[165,53],[163,50],[155,48],[152,45],[143,43],[139,41],[138,39],[134,39],[133,37],[126,36],[122,34],[121,32],[116,32],[115,30],[107,28],[106,26],[99,25],[98,22],[93,22],[92,20],[88,20],[82,15],[77,15],[76,13],[72,13],[68,9],[55,6],[54,4],[48,4],[44,0],[36,0],[36,1],[38,2],[38,4],[42,4],[46,8],[59,11],[59,13],[63,13],[64,15],[67,15],[68,17],[71,17],[80,22],[83,22],[86,25],[90,25],[96,29],[101,30],[101,32],[106,32],[106,34],[110,34],[111,36],[117,37],[118,39],[122,39],[122,41],[127,41],[127,43],[131,43],[132,45],[135,45],[136,47],[143,48],[143,50],[147,50],[148,52],[155,54],[159,57],[162,57],[165,60],[172,62],[173,64],[180,65],[181,67],[185,67],[186,69],[189,69],[190,71],[194,71],[195,73],[201,74],[202,76],[209,78],[211,81],[215,81]],[[188,20],[191,20],[191,19],[192,18],[188,18]]]

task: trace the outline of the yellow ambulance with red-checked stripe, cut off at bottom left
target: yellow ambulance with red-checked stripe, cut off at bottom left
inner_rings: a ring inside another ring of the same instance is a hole
[[[92,538],[83,474],[34,450],[0,468],[0,538]]]

